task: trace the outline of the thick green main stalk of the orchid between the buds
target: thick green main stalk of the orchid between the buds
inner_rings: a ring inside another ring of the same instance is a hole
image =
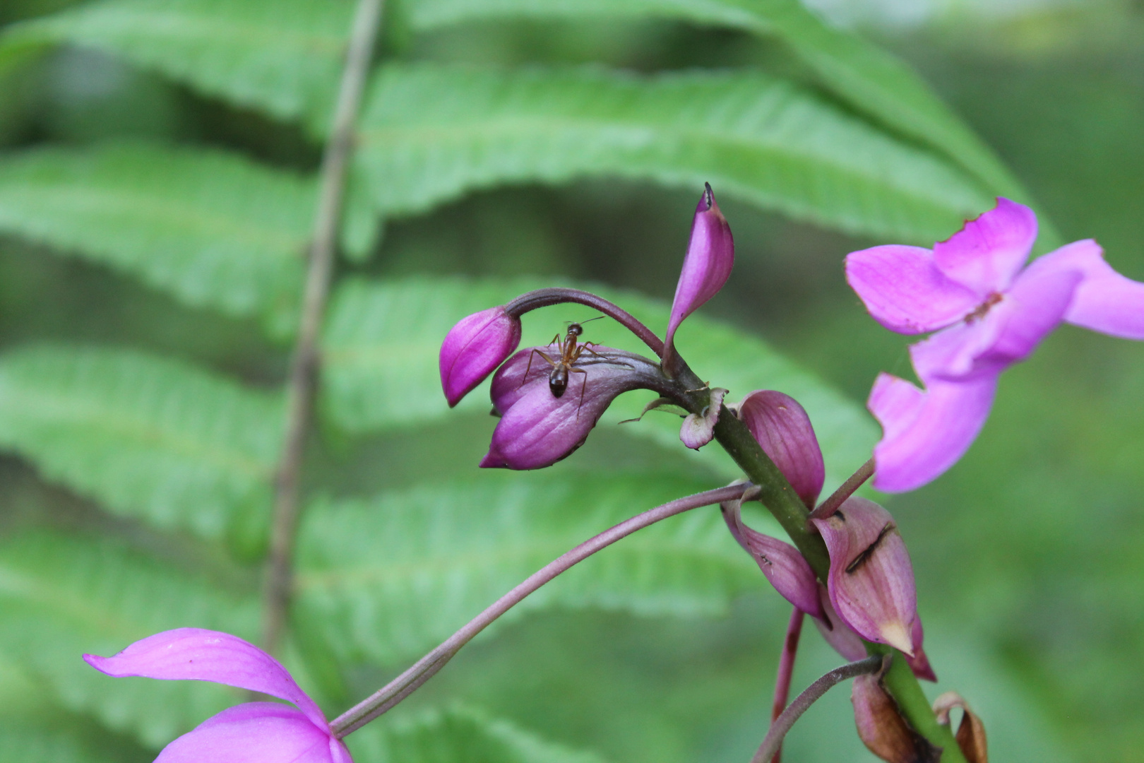
[[[831,570],[826,543],[823,542],[821,535],[810,530],[807,520],[810,512],[807,511],[807,507],[774,462],[760,447],[747,426],[724,407],[715,424],[715,439],[734,459],[747,478],[758,486],[763,506],[782,525],[819,580],[825,582]],[[906,665],[905,658],[884,644],[872,642],[866,642],[866,651],[871,654],[895,653],[893,665],[883,678],[883,685],[909,724],[936,747],[943,748],[943,763],[966,763],[950,728],[937,722],[937,716],[930,708],[925,694],[922,693],[917,677]]]

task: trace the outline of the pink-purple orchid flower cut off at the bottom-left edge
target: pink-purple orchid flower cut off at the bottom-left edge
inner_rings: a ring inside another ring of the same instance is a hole
[[[212,681],[293,702],[246,702],[223,710],[167,745],[156,763],[352,763],[321,709],[275,658],[237,636],[176,628],[137,641],[114,657],[85,654],[109,676]]]

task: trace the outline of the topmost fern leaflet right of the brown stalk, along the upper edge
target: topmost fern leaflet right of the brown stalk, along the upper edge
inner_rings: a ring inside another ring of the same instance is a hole
[[[673,18],[778,38],[834,96],[887,129],[943,151],[993,193],[1024,198],[993,152],[908,65],[823,23],[799,0],[408,0],[416,31],[490,18]]]

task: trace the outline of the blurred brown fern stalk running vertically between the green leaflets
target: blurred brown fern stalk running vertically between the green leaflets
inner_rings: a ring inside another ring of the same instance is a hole
[[[357,121],[373,46],[381,25],[383,0],[360,0],[353,16],[352,37],[345,54],[333,129],[321,160],[318,208],[315,214],[310,264],[305,276],[297,341],[286,388],[286,437],[275,479],[275,507],[267,563],[262,643],[277,650],[286,628],[293,586],[294,537],[300,509],[300,476],[307,436],[313,419],[318,380],[318,335],[329,295],[334,249],[345,197],[345,175],[353,148]]]

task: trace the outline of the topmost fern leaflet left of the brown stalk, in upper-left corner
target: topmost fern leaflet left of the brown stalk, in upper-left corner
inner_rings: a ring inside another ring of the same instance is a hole
[[[104,50],[320,133],[352,11],[350,0],[103,0],[15,25],[2,46]]]

